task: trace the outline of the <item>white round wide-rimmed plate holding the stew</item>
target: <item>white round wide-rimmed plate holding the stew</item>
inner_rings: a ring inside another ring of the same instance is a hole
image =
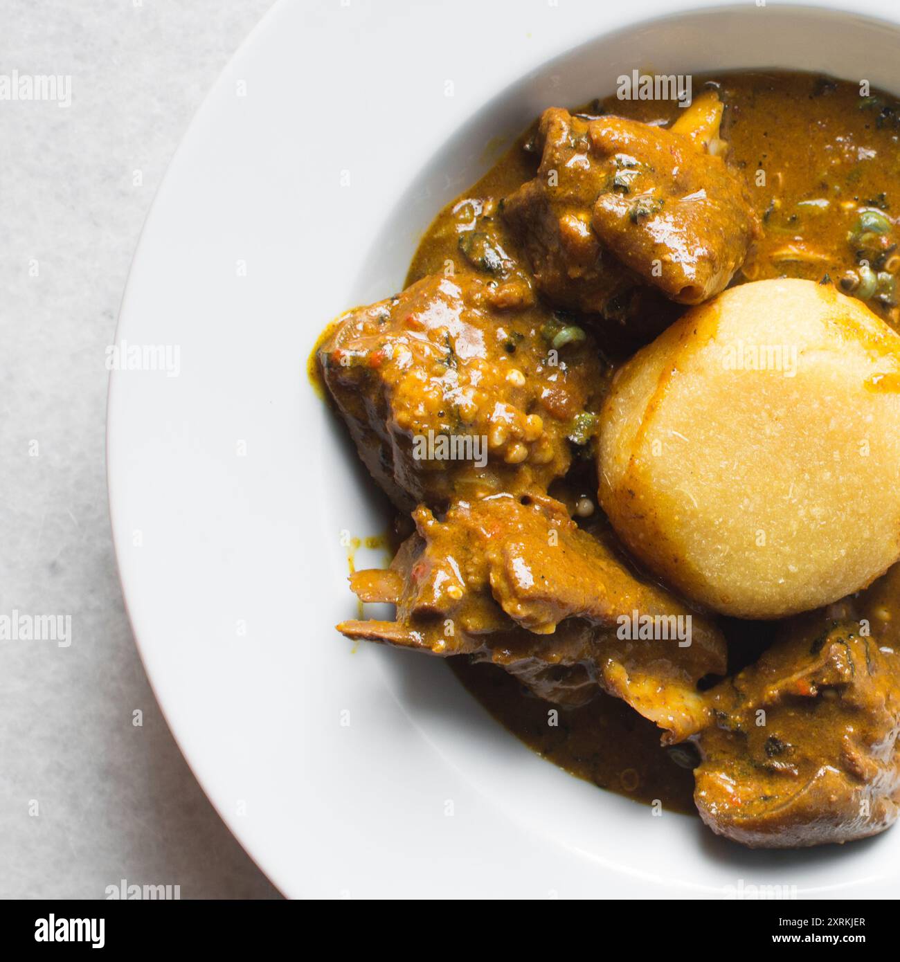
[[[542,761],[437,660],[340,638],[355,610],[340,533],[383,521],[304,373],[330,317],[399,288],[432,215],[497,156],[485,145],[546,106],[605,94],[635,67],[793,66],[897,92],[900,34],[861,16],[878,5],[855,6],[745,3],[624,27],[620,5],[575,0],[282,3],[225,70],[129,278],[116,343],[177,345],[180,372],[113,373],[110,500],[167,721],[287,895],[721,898],[740,879],[881,895],[896,882],[900,829],[846,848],[737,848]],[[672,8],[631,2],[626,16]],[[478,63],[485,50],[501,57]]]

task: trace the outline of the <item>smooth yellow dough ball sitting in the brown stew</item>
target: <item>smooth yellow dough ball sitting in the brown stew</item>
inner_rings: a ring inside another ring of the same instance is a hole
[[[812,281],[725,291],[617,373],[599,457],[613,527],[684,595],[828,604],[900,557],[900,337]]]

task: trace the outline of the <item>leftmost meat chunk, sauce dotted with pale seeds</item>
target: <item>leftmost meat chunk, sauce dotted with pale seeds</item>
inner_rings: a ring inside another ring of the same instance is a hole
[[[517,273],[424,277],[341,317],[318,358],[360,456],[404,510],[545,490],[569,468],[569,437],[593,429],[608,367]]]

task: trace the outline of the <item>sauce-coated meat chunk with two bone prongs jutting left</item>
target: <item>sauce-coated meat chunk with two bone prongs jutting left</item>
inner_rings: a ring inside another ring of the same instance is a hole
[[[397,604],[397,620],[347,621],[345,635],[491,661],[560,704],[604,689],[665,729],[667,742],[703,726],[697,682],[724,673],[721,634],[637,578],[559,502],[503,494],[456,501],[443,521],[426,508],[414,517],[418,533],[391,570],[351,577],[362,600]],[[642,618],[664,630],[632,630]]]

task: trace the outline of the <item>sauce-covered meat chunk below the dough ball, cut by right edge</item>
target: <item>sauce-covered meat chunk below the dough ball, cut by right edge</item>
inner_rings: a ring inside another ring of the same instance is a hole
[[[752,848],[849,842],[900,805],[900,566],[870,589],[785,622],[756,665],[707,693],[695,801]]]

